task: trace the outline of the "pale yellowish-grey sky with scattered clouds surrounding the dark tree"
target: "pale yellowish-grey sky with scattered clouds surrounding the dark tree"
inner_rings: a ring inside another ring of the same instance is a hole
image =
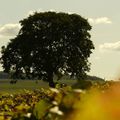
[[[17,35],[19,21],[34,11],[77,13],[88,19],[95,50],[88,74],[120,77],[120,0],[0,0],[0,47]],[[0,70],[2,68],[0,67]]]

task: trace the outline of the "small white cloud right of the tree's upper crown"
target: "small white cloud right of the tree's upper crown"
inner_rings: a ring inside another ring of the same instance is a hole
[[[88,18],[88,21],[91,24],[111,24],[112,23],[112,21],[108,17]]]

